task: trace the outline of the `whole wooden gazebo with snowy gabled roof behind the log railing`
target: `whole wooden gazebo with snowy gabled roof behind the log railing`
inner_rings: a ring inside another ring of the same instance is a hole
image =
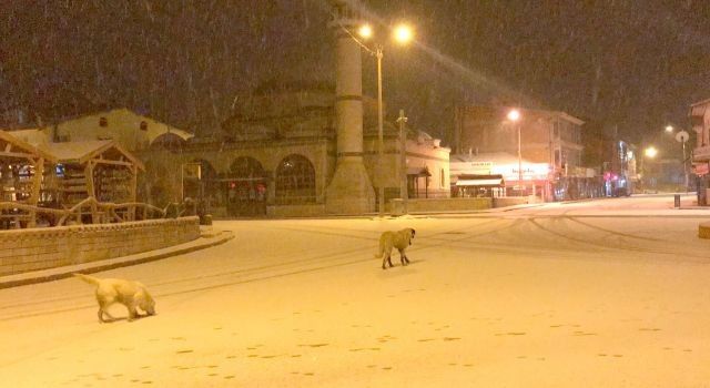
[[[44,149],[57,161],[60,208],[85,204],[92,223],[110,222],[115,214],[100,212],[101,203],[135,203],[138,173],[143,163],[113,141],[50,143]],[[90,200],[90,201],[87,201]],[[135,207],[126,206],[119,218],[134,218]]]

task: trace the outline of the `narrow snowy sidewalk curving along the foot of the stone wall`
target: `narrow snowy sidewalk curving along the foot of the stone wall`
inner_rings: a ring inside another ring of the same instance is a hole
[[[176,255],[183,255],[190,252],[209,248],[215,245],[224,244],[227,241],[234,238],[232,231],[212,231],[211,228],[201,228],[202,235],[200,238],[170,246],[166,248],[155,249],[139,253],[135,255],[114,257],[104,261],[97,261],[91,263],[83,263],[77,265],[68,265],[63,267],[49,268],[42,270],[32,270],[22,274],[0,276],[0,289],[16,286],[23,286],[28,284],[42,283],[57,280],[64,277],[72,276],[73,273],[91,274],[101,270],[113,269],[118,267],[125,267],[129,265],[135,265],[141,263],[154,262],[161,258],[166,258]]]

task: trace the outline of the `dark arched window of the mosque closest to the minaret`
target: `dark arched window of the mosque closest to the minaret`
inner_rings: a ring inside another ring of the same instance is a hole
[[[298,154],[291,154],[276,167],[276,203],[314,203],[315,169],[311,161]]]

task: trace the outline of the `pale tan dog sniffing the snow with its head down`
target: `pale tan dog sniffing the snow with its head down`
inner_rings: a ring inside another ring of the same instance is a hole
[[[129,309],[129,321],[140,316],[136,307],[140,307],[148,315],[155,314],[155,302],[145,289],[145,286],[139,282],[111,278],[100,279],[82,274],[74,274],[74,276],[97,286],[99,320],[102,323],[106,321],[103,319],[104,314],[112,320],[115,319],[106,310],[114,303],[120,303]]]

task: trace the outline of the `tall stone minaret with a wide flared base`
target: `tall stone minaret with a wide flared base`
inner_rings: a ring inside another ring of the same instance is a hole
[[[337,163],[325,192],[331,214],[375,211],[375,191],[363,164],[363,63],[361,47],[347,31],[362,24],[359,0],[331,0],[335,34],[335,115]],[[347,31],[346,31],[347,30]]]

